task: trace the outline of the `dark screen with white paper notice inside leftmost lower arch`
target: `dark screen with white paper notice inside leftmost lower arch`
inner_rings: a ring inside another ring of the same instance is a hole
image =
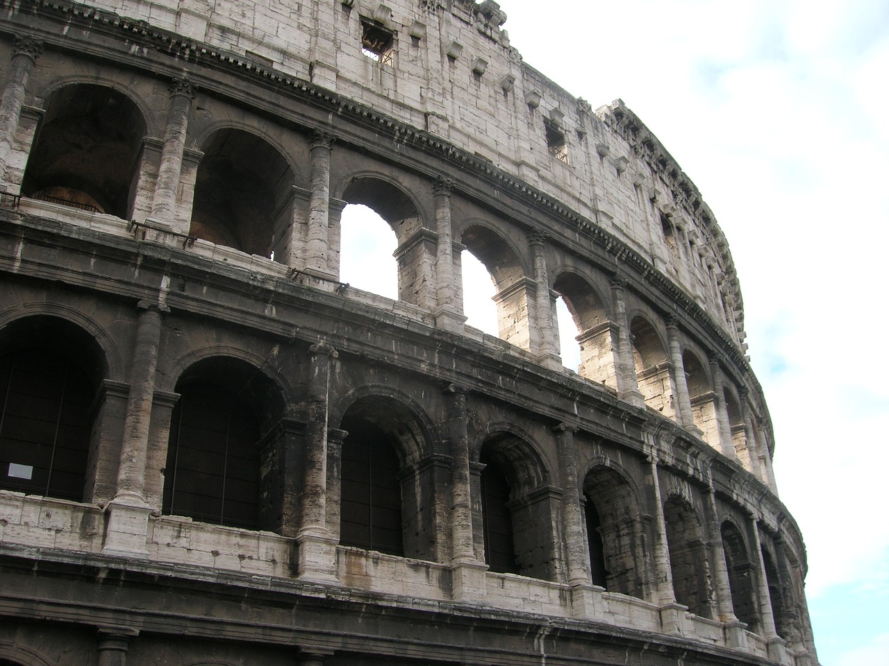
[[[0,488],[82,501],[91,404],[83,372],[59,354],[0,360]]]

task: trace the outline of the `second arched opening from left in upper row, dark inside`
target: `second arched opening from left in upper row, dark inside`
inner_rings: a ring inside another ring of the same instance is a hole
[[[275,147],[250,132],[216,131],[198,165],[189,233],[247,254],[286,260],[293,172]]]

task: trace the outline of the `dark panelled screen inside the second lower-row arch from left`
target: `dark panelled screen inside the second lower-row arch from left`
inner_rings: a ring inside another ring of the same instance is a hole
[[[244,397],[208,384],[181,389],[164,472],[164,513],[256,529],[260,426]]]

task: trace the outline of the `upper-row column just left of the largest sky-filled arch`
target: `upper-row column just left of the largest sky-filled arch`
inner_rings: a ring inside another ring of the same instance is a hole
[[[306,271],[318,277],[335,279],[327,267],[328,225],[330,218],[331,147],[333,138],[316,131],[312,135],[306,238]]]

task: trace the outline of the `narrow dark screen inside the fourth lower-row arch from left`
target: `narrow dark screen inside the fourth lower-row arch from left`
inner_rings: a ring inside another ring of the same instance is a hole
[[[485,532],[485,560],[491,571],[517,574],[516,549],[512,537],[512,513],[509,511],[509,483],[500,467],[485,456],[481,462],[482,516]]]

